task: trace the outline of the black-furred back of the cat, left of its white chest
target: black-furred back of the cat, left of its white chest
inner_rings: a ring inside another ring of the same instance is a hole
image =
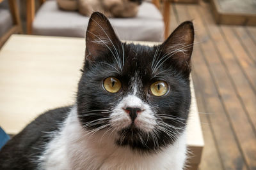
[[[60,129],[71,108],[49,110],[13,136],[0,150],[0,169],[35,169],[44,146]]]

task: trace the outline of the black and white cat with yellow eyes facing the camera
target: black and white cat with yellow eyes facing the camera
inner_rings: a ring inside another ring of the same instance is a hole
[[[74,106],[40,115],[0,152],[0,169],[183,169],[192,22],[161,45],[122,43],[93,13]]]

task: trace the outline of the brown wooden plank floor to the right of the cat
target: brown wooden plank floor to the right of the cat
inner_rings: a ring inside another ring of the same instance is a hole
[[[172,4],[195,24],[193,81],[205,139],[200,169],[256,169],[256,27],[216,25],[209,4]]]

